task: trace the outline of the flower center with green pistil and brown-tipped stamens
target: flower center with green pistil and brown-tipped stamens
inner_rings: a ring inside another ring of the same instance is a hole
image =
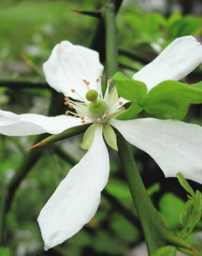
[[[80,118],[83,124],[86,122],[104,124],[107,123],[110,118],[122,111],[122,102],[118,98],[116,88],[109,91],[111,80],[107,82],[107,90],[104,97],[101,89],[101,75],[96,79],[97,90],[89,88],[90,82],[88,80],[83,80],[83,82],[86,85],[87,90],[85,98],[83,98],[75,89],[71,89],[71,92],[77,95],[79,101],[72,100],[68,97],[64,98],[64,104],[68,105],[66,115]]]

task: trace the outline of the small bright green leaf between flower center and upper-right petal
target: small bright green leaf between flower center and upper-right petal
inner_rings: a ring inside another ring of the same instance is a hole
[[[113,76],[116,82],[116,89],[122,98],[140,103],[147,93],[147,86],[143,82],[132,80],[124,74],[118,72]]]

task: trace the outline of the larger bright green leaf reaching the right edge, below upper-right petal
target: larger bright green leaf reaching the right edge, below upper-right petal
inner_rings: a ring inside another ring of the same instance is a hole
[[[182,119],[187,113],[189,103],[199,104],[201,102],[202,86],[200,83],[187,85],[167,80],[149,91],[142,105],[148,113]]]

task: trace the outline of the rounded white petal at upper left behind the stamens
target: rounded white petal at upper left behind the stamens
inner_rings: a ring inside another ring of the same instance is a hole
[[[86,85],[82,80],[89,80],[90,88],[96,89],[95,80],[104,69],[96,51],[67,41],[55,46],[43,68],[46,80],[53,89],[77,100],[81,98],[72,93],[71,89],[75,89],[84,98]]]

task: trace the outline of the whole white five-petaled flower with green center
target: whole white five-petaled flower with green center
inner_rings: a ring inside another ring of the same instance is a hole
[[[201,44],[194,37],[181,37],[136,73],[134,79],[145,82],[151,89],[163,80],[180,80],[201,62]],[[66,98],[66,104],[77,113],[45,117],[0,111],[0,132],[10,136],[59,134],[91,122],[95,126],[88,152],[70,170],[39,214],[46,249],[75,235],[98,209],[100,192],[109,178],[109,154],[102,138],[106,123],[118,129],[129,143],[152,156],[165,176],[183,172],[187,179],[202,183],[202,128],[177,120],[114,119],[125,101],[118,98],[116,89],[109,92],[109,87],[102,96],[102,71],[98,53],[62,42],[55,46],[44,64],[44,73],[50,86],[79,100]]]

